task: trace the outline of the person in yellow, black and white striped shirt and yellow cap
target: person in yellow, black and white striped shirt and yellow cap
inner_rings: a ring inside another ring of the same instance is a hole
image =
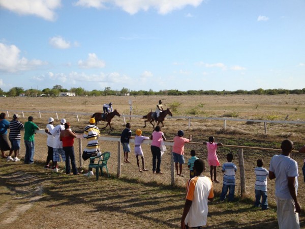
[[[89,125],[85,127],[83,137],[86,138],[87,146],[85,147],[82,159],[86,161],[90,157],[101,156],[100,147],[99,147],[99,136],[100,129],[95,125],[96,121],[94,118],[89,120]],[[90,159],[90,163],[94,163],[94,159]],[[84,176],[93,176],[93,170],[90,168],[88,173],[84,174]]]

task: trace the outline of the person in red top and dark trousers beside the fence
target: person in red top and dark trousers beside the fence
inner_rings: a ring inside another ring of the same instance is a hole
[[[74,138],[76,134],[70,129],[70,123],[65,123],[65,130],[60,131],[59,140],[63,142],[63,149],[66,154],[66,174],[70,175],[70,160],[72,165],[73,175],[79,175],[75,163],[75,154],[74,154]]]

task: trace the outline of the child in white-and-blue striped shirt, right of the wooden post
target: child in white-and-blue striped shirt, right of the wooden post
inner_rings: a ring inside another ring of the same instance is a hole
[[[262,210],[268,208],[268,198],[267,198],[267,176],[269,174],[268,170],[263,167],[263,160],[258,159],[256,161],[257,167],[254,169],[256,175],[255,182],[255,207],[262,207]],[[262,197],[262,202],[260,201]]]

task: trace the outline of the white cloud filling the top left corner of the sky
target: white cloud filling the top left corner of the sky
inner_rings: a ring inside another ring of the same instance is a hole
[[[60,5],[61,0],[0,0],[0,7],[21,15],[35,15],[49,21],[56,19],[54,10]]]

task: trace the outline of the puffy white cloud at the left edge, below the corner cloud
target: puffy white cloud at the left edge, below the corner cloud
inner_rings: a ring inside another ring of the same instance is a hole
[[[0,71],[26,71],[47,64],[46,62],[36,59],[29,61],[24,57],[20,58],[19,54],[20,49],[17,46],[0,43]]]

